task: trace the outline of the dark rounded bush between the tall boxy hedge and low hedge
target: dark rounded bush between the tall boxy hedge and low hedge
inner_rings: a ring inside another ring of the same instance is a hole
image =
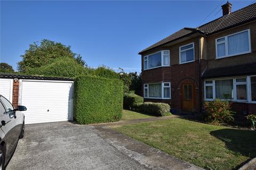
[[[124,94],[124,109],[135,109],[139,104],[143,103],[143,97],[129,93]]]

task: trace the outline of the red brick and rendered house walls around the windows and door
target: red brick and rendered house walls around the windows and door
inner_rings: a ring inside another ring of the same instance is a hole
[[[243,31],[246,29],[251,30],[251,53],[244,55],[237,55],[232,57],[221,58],[216,60],[215,54],[215,39]],[[256,22],[247,23],[233,29],[222,31],[208,37],[201,37],[200,44],[198,43],[199,37],[192,37],[179,43],[170,44],[170,46],[159,46],[143,52],[141,55],[141,66],[143,69],[143,56],[159,52],[160,50],[170,50],[170,63],[171,66],[158,67],[155,69],[142,70],[142,91],[143,84],[156,83],[156,82],[171,82],[171,99],[149,99],[145,101],[163,102],[170,104],[172,109],[180,111],[182,109],[181,100],[181,87],[182,83],[194,84],[194,109],[196,112],[202,111],[204,108],[204,80],[201,75],[207,69],[236,66],[245,63],[256,63],[256,37],[252,32],[256,31]],[[179,64],[179,47],[189,43],[194,43],[195,62]],[[198,48],[199,47],[199,48]],[[200,53],[199,53],[200,52]],[[200,67],[198,65],[198,58],[201,58]],[[243,60],[241,60],[243,58]],[[200,68],[200,72],[199,72]],[[256,69],[256,68],[255,68]],[[201,105],[200,105],[201,104]],[[232,103],[233,110],[239,115],[256,114],[255,103]]]

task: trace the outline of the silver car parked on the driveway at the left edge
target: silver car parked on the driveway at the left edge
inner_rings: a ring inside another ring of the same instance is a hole
[[[25,124],[25,106],[14,108],[13,105],[0,95],[0,170],[6,168],[18,145],[23,138]]]

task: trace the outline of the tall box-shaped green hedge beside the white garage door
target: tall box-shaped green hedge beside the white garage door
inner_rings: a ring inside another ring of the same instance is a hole
[[[122,109],[121,80],[86,75],[75,79],[74,118],[78,124],[118,121]]]

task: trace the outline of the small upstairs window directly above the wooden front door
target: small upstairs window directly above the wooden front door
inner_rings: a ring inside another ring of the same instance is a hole
[[[195,61],[194,43],[180,47],[180,64]]]

